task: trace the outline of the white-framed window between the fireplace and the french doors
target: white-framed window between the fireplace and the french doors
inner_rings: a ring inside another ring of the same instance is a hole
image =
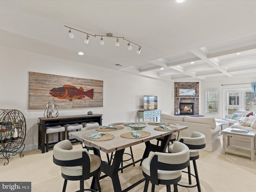
[[[205,90],[205,113],[219,113],[219,90]]]

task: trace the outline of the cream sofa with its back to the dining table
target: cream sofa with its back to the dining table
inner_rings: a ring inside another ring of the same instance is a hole
[[[204,134],[206,147],[203,150],[212,152],[221,145],[219,137],[221,128],[220,126],[216,126],[214,117],[190,117],[161,114],[160,121],[188,126],[188,129],[180,131],[179,137],[190,137],[194,131]]]

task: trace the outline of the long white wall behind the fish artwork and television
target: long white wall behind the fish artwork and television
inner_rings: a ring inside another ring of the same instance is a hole
[[[135,76],[61,58],[0,46],[0,109],[20,110],[26,118],[25,150],[38,148],[38,118],[44,110],[29,110],[29,72],[103,80],[103,107],[59,110],[60,116],[103,114],[102,124],[138,121],[143,95],[158,96],[158,108],[173,114],[174,83]],[[150,119],[149,119],[150,120]]]

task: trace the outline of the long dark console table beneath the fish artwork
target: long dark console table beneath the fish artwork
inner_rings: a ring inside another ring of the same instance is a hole
[[[40,117],[38,123],[38,149],[42,150],[44,153],[45,146],[45,127],[46,126],[56,126],[64,124],[74,124],[82,122],[98,122],[102,125],[102,114],[92,114],[92,115],[70,115],[70,116],[58,116],[54,118]]]

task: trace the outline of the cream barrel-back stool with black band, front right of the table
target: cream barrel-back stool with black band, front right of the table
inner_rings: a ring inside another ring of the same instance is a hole
[[[166,185],[167,192],[174,185],[174,192],[178,192],[177,183],[181,180],[182,169],[189,165],[189,148],[181,142],[170,144],[171,153],[154,152],[142,162],[142,173],[146,178],[144,192],[148,191],[149,181],[152,183],[151,192],[155,185]]]

